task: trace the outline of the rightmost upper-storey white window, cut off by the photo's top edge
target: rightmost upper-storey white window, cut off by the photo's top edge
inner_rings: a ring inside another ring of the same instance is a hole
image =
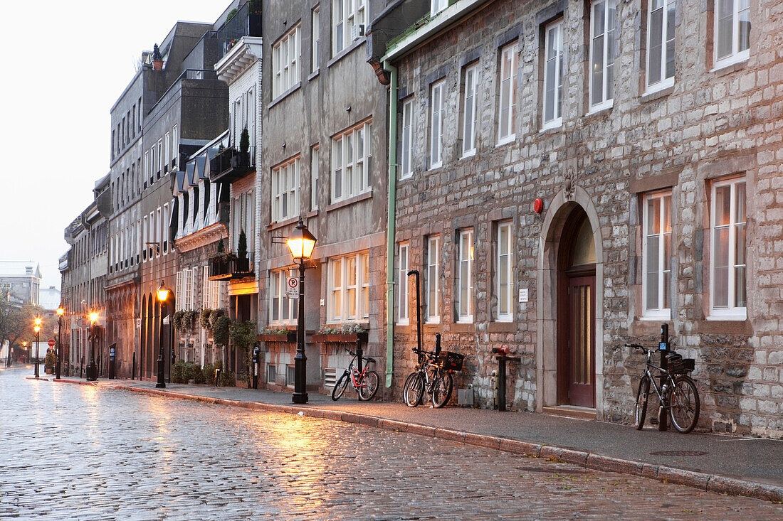
[[[715,0],[715,65],[750,56],[750,0]]]

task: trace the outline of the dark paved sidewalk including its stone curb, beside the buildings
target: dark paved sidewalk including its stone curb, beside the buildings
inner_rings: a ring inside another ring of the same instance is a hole
[[[41,375],[41,379],[53,378]],[[720,494],[783,501],[783,441],[728,437],[708,433],[659,432],[646,427],[572,419],[526,412],[429,405],[408,408],[401,403],[359,402],[347,391],[340,401],[309,393],[309,403],[291,403],[290,393],[235,387],[193,386],[106,380],[88,383],[103,388],[161,394],[244,408],[302,413],[316,418],[360,423],[381,429],[416,433],[501,451],[555,458],[590,469],[646,476]]]

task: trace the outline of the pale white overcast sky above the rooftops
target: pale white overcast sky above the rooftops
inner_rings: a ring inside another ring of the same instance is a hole
[[[230,3],[0,3],[0,260],[37,262],[41,287],[60,289],[63,234],[109,172],[109,111],[135,63],[178,20],[214,23]]]

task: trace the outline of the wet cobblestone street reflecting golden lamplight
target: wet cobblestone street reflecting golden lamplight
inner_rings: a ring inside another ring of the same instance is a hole
[[[781,519],[783,505],[0,372],[2,519]]]

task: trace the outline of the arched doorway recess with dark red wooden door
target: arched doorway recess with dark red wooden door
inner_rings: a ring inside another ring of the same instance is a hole
[[[557,252],[557,404],[595,407],[595,282],[593,230],[575,205]]]

